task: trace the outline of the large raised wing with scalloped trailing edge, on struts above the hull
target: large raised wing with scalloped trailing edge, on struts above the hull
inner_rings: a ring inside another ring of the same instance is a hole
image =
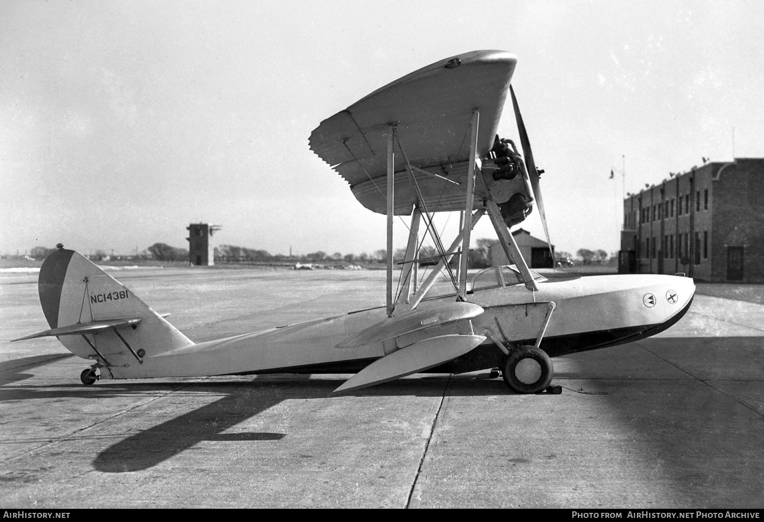
[[[397,136],[410,163],[442,177],[416,172],[430,211],[463,210],[472,112],[480,110],[478,156],[494,143],[516,56],[480,50],[452,56],[377,89],[321,122],[310,148],[351,185],[358,201],[387,211],[387,133]],[[396,145],[395,171],[406,163]],[[477,198],[476,198],[477,199]],[[408,176],[396,176],[395,214],[410,214],[416,195]]]

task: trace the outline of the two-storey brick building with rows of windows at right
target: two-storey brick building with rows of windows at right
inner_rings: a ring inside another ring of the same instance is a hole
[[[626,198],[619,272],[764,282],[764,158],[706,163]]]

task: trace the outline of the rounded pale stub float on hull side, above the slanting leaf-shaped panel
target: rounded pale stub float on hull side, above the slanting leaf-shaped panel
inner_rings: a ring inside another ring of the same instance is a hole
[[[454,321],[478,317],[482,313],[483,308],[478,306],[478,304],[464,301],[439,304],[436,307],[424,310],[415,309],[374,324],[374,326],[368,327],[366,330],[361,330],[353,337],[339,343],[335,348],[355,348],[371,343],[380,343],[393,337],[399,337],[406,333],[423,330],[424,328],[435,327],[439,324],[448,324]]]

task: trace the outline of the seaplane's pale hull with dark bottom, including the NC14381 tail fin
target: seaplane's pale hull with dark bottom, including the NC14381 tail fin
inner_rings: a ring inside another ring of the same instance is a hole
[[[39,288],[51,330],[29,337],[56,335],[75,355],[95,360],[102,379],[357,372],[406,346],[439,350],[423,343],[435,337],[459,339],[454,346],[480,343],[451,361],[444,354],[433,368],[468,372],[500,366],[505,346],[535,344],[547,322],[540,347],[549,356],[647,337],[678,321],[694,295],[692,279],[683,277],[592,276],[542,281],[534,292],[521,284],[481,289],[461,304],[454,296],[432,298],[392,320],[374,308],[193,343],[72,250],[46,259]]]

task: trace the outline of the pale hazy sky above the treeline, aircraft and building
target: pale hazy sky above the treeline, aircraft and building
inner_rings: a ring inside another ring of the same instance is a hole
[[[185,248],[200,221],[270,253],[384,248],[384,216],[309,134],[480,49],[518,56],[557,250],[617,250],[623,156],[626,192],[729,161],[733,143],[764,156],[764,2],[5,0],[0,253]],[[500,134],[516,137],[511,102]],[[537,212],[521,226],[543,237]],[[490,222],[472,237],[495,237]]]

